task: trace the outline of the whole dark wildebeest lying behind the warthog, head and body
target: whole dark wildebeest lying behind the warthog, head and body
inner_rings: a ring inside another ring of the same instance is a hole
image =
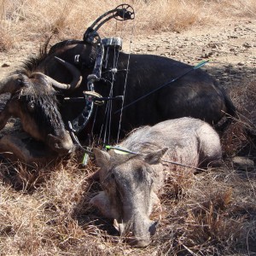
[[[95,90],[102,96],[109,96],[111,82],[113,81],[113,96],[123,95],[125,91],[124,105],[133,102],[138,97],[147,94],[167,81],[177,78],[192,68],[182,62],[162,56],[128,55],[119,52],[116,67],[117,73],[113,75],[110,70],[115,67],[113,65],[113,55],[116,53],[114,53],[114,49],[109,49],[108,53],[108,62],[105,61],[103,63],[102,79],[95,83]],[[79,55],[79,63],[74,63],[75,55]],[[70,68],[67,69],[67,66],[61,64],[61,61],[56,60],[55,56],[71,63],[74,69],[81,73],[82,80],[77,78],[76,80],[79,81],[77,84],[71,82],[73,74],[70,72]],[[25,70],[17,72],[21,73],[20,75],[14,74],[0,82],[0,94],[8,92],[9,88],[12,89],[10,91],[12,97],[9,105],[16,98],[15,106],[11,107],[15,111],[9,111],[9,108],[5,108],[0,113],[0,127],[5,125],[11,115],[20,117],[24,130],[32,137],[49,144],[57,154],[70,152],[73,148],[73,143],[66,131],[67,121],[73,120],[82,112],[84,102],[65,102],[63,98],[65,96],[83,96],[83,91],[87,90],[87,76],[92,73],[95,61],[96,46],[94,44],[69,40],[55,44],[55,46],[49,49],[49,53],[47,53],[45,47],[45,50],[38,57],[26,62]],[[129,66],[127,65],[128,61]],[[124,90],[127,68],[128,76],[126,90]],[[72,87],[73,90],[58,89],[57,95],[52,93],[54,89],[49,89],[49,87],[52,85],[59,87],[58,82],[73,84],[73,86],[64,86],[65,89]],[[46,94],[47,97],[44,97],[43,94],[29,96],[30,91],[33,90],[26,90],[28,84],[32,87],[42,85],[48,88],[47,90],[50,90],[51,93]],[[19,97],[20,91],[23,92],[23,95],[26,93],[26,97],[23,97],[22,101]],[[44,104],[42,106],[32,104],[33,109],[27,111],[27,106],[30,105],[32,97],[41,104],[40,102],[42,101],[37,99],[38,95],[42,96]],[[56,97],[58,101],[55,99]],[[24,102],[24,99],[27,99],[27,101]],[[58,102],[60,102],[59,105]],[[27,105],[26,108],[22,107],[22,104]],[[45,106],[51,107],[45,108]],[[50,120],[43,124],[40,119],[36,119],[33,114],[36,112],[35,108],[40,108],[42,115],[44,115],[45,108],[45,115],[47,117],[42,117],[42,119]],[[108,132],[112,137],[116,137],[119,130],[120,113],[113,114],[119,108],[121,108],[121,102],[113,101],[111,125],[108,126],[110,127]],[[54,113],[51,114],[49,113],[50,111]],[[232,115],[234,111],[235,108],[224,89],[205,71],[197,69],[188,73],[182,79],[178,79],[175,83],[167,85],[165,88],[126,108],[122,113],[121,136],[124,136],[127,131],[131,131],[140,125],[154,125],[165,119],[183,116],[191,116],[206,120],[210,124],[215,124],[224,116],[224,112]],[[60,117],[64,120],[64,124]],[[22,119],[24,120],[22,121]],[[30,119],[30,121],[26,122],[26,119]],[[99,107],[93,130],[95,134],[100,133],[104,122],[106,122],[105,107]],[[79,133],[79,136],[89,133],[92,123],[93,118],[84,131]],[[55,127],[58,127],[57,131]],[[45,134],[45,136],[42,136],[42,134]],[[54,143],[52,143],[52,140],[49,140],[49,138],[52,138],[52,135],[54,136]]]

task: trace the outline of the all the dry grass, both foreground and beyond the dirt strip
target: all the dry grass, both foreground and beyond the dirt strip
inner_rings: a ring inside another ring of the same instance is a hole
[[[56,40],[81,38],[91,21],[122,2],[0,0],[0,50],[16,47],[20,41],[37,42],[52,33]],[[254,0],[127,3],[136,9],[137,33],[180,31],[224,16],[231,19],[256,12]],[[126,23],[118,27],[109,23],[102,33],[122,32],[121,26]],[[131,32],[131,27],[127,31]],[[233,92],[241,119],[223,138],[223,145],[230,145],[224,148],[229,155],[246,150],[248,145],[249,154],[255,155],[247,133],[255,131],[255,92],[252,80],[247,81],[244,97],[240,97],[241,89]],[[224,166],[208,172],[188,175],[188,170],[181,169],[167,176],[160,195],[164,212],[159,230],[147,248],[138,249],[126,245],[111,220],[90,207],[90,198],[101,188],[88,179],[95,171],[93,163],[82,167],[80,159],[77,155],[36,167],[0,165],[1,256],[256,253],[255,168],[237,169],[226,160]]]

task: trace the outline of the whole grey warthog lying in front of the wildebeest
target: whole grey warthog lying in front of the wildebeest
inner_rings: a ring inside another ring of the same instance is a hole
[[[189,166],[207,166],[221,160],[218,133],[200,119],[166,120],[131,132],[122,143],[136,154],[108,153],[95,148],[96,165],[103,191],[90,200],[102,215],[113,218],[121,236],[132,233],[132,244],[146,247],[156,231],[157,222],[149,218],[164,172],[173,168],[166,161]]]

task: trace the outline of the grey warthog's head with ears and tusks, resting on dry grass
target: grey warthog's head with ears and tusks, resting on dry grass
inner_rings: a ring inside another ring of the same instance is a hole
[[[90,201],[132,245],[146,247],[158,221],[149,218],[160,203],[156,192],[162,183],[160,158],[167,148],[144,155],[115,154],[94,149],[103,191]],[[152,166],[154,165],[154,168]]]

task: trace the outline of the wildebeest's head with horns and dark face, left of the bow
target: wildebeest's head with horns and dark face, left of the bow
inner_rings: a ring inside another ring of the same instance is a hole
[[[67,67],[68,63],[64,65]],[[13,74],[0,81],[0,94],[11,94],[0,113],[0,129],[10,116],[20,118],[23,130],[31,137],[46,143],[59,155],[71,153],[73,142],[61,119],[53,86],[61,89],[77,86],[79,73],[75,70],[73,75],[71,84],[58,83],[44,73]]]

